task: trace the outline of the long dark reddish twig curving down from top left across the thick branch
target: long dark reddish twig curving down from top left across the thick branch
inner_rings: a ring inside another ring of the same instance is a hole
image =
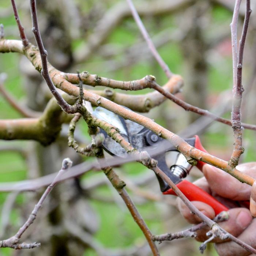
[[[37,46],[40,52],[41,56],[41,61],[42,61],[42,71],[41,74],[45,79],[45,82],[47,83],[51,93],[53,96],[56,98],[57,102],[61,106],[61,108],[66,112],[66,113],[75,113],[75,108],[69,105],[58,93],[56,90],[52,79],[50,78],[49,72],[48,72],[48,62],[47,62],[47,51],[44,48],[44,44],[41,38],[41,34],[39,31],[38,27],[38,20],[37,20],[37,8],[36,8],[36,3],[35,0],[30,0],[30,10],[31,10],[31,16],[32,16],[32,23],[33,23],[33,28],[32,31],[35,36],[35,41],[37,42]]]

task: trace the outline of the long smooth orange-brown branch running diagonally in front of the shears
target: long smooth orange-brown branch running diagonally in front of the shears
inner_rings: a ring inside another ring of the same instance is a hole
[[[27,58],[32,62],[34,67],[41,71],[41,57],[38,53],[38,49],[34,46],[30,46],[23,52],[22,45],[20,44],[20,41],[16,40],[1,40],[0,41],[0,51],[2,52],[10,52],[10,51],[16,51],[23,53],[27,56]],[[79,95],[79,89],[78,87],[74,86],[73,84],[69,83],[65,79],[65,73],[58,71],[54,67],[49,65],[49,74],[53,80],[53,83],[56,85],[57,88],[65,91],[69,95],[78,96]],[[117,105],[116,103],[109,101],[106,98],[100,97],[99,95],[89,91],[89,90],[83,90],[84,92],[84,99],[86,101],[91,102],[95,106],[102,106],[103,108],[106,108],[125,119],[129,119],[131,121],[134,121],[135,123],[141,124],[144,127],[150,129],[160,137],[168,140],[170,143],[172,143],[178,151],[180,151],[182,154],[185,155],[187,160],[191,162],[192,164],[196,163],[196,160],[203,161],[206,163],[209,163],[210,165],[216,166],[219,169],[225,170],[225,172],[229,173],[230,175],[234,176],[241,182],[245,182],[246,184],[252,185],[254,182],[254,179],[252,177],[249,177],[245,175],[244,173],[239,172],[237,169],[231,167],[228,162],[223,161],[222,159],[219,159],[217,157],[214,157],[208,153],[204,153],[196,148],[191,147],[188,143],[186,143],[183,139],[181,139],[179,136],[174,134],[173,132],[170,132],[169,130],[161,127],[157,123],[155,123],[150,118],[144,117],[140,114],[137,114],[131,110],[128,110],[124,108],[123,106]],[[165,92],[166,93],[166,92]],[[168,93],[166,93],[168,95]],[[244,127],[250,127],[251,129],[256,129],[255,125],[244,125]]]

